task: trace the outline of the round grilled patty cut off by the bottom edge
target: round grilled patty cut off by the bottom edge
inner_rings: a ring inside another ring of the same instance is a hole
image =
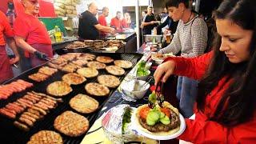
[[[30,138],[30,141],[27,142],[27,144],[49,144],[49,143],[54,143],[54,144],[62,144],[62,136],[61,134],[58,134],[54,131],[50,130],[41,130],[36,134],[33,134],[32,137]]]

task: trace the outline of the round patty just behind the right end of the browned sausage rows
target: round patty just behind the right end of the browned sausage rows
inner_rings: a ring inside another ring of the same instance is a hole
[[[62,97],[66,94],[70,94],[70,92],[72,91],[72,88],[66,82],[57,81],[48,85],[46,88],[46,91],[48,94]]]

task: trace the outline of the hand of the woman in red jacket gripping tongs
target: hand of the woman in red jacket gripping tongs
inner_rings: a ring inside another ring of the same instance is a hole
[[[162,82],[166,82],[170,75],[174,74],[175,67],[176,66],[174,61],[167,61],[159,65],[158,69],[154,72],[154,85],[157,85],[158,82],[161,81],[160,78],[162,77],[162,75]]]

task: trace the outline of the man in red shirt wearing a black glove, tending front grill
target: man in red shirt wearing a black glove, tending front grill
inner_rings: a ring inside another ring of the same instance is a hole
[[[51,40],[46,26],[37,18],[38,0],[22,0],[25,13],[19,15],[14,22],[15,41],[25,50],[25,57],[30,58],[32,66],[45,62],[46,57],[53,58]]]

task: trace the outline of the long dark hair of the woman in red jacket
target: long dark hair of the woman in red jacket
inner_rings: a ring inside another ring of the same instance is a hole
[[[198,85],[197,106],[198,110],[204,111],[206,95],[218,86],[222,78],[230,82],[210,120],[234,126],[253,118],[256,108],[256,1],[224,0],[214,12],[214,18],[229,19],[244,30],[253,31],[250,59],[238,64],[229,62],[226,54],[219,50],[221,38],[218,36],[209,69]]]

